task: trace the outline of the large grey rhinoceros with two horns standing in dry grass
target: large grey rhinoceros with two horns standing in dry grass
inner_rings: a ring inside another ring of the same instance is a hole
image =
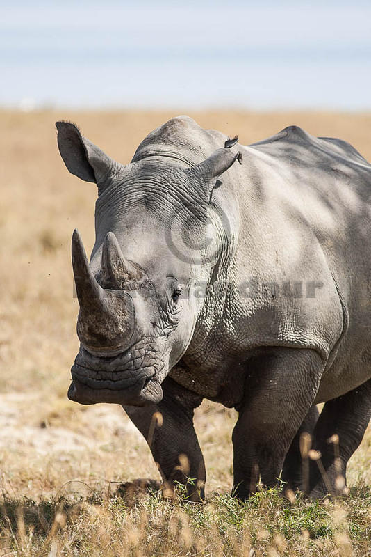
[[[343,493],[371,414],[370,164],[296,126],[242,146],[187,116],[120,164],[56,126],[67,169],[98,187],[90,262],[72,238],[69,398],[122,405],[191,500],[204,398],[238,411],[238,498],[280,474],[311,497]]]

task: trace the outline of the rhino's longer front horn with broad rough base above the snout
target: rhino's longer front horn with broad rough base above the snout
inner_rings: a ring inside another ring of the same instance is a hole
[[[131,345],[134,331],[133,300],[126,292],[104,290],[86,257],[81,236],[72,236],[72,267],[80,312],[77,334],[87,350],[107,352]]]

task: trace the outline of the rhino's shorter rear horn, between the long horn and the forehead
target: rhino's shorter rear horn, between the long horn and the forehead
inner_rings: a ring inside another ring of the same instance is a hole
[[[124,258],[117,237],[108,232],[101,253],[101,283],[105,288],[124,289],[142,279],[142,273]]]

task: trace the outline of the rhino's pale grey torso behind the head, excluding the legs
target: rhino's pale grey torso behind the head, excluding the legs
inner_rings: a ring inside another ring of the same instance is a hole
[[[223,308],[205,305],[183,363],[204,369],[201,394],[213,377],[217,398],[240,354],[309,347],[331,377],[320,400],[333,397],[334,378],[342,394],[370,376],[371,166],[346,142],[297,127],[238,149],[244,163],[213,196],[231,228],[231,286]]]

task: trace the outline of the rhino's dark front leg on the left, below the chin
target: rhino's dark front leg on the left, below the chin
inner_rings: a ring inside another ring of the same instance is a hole
[[[124,410],[149,444],[165,487],[172,491],[174,482],[179,482],[186,485],[189,501],[200,501],[204,499],[206,469],[193,414],[202,398],[170,377],[162,386],[163,400],[158,405],[126,406]]]

